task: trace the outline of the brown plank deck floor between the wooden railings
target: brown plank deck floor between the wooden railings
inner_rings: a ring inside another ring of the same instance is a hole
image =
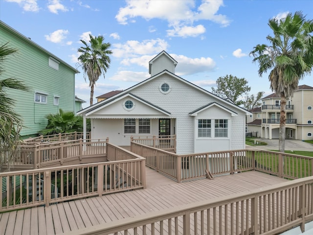
[[[185,183],[146,167],[147,188],[0,214],[0,235],[54,235],[287,180],[248,171]]]

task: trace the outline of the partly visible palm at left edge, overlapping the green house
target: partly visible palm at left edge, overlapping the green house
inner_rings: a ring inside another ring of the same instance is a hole
[[[0,77],[4,71],[2,63],[7,56],[17,51],[7,44],[0,46]],[[7,168],[10,170],[10,163],[14,161],[17,146],[21,141],[19,133],[22,118],[14,110],[14,100],[6,94],[8,89],[28,91],[28,88],[15,78],[0,78],[0,164],[6,156]]]

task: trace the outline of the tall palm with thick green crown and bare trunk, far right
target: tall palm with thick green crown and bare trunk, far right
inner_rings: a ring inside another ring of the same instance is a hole
[[[279,151],[285,152],[286,99],[293,96],[299,80],[310,74],[313,66],[313,21],[302,12],[289,13],[286,18],[268,21],[274,36],[267,36],[269,45],[257,45],[250,52],[259,63],[259,75],[269,71],[272,91],[281,98]]]

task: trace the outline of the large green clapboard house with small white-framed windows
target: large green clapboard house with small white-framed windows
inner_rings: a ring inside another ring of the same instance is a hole
[[[3,63],[1,78],[22,80],[30,92],[10,90],[16,100],[16,111],[23,118],[21,135],[29,137],[47,125],[47,114],[59,109],[76,113],[75,74],[78,71],[34,43],[9,25],[0,21],[0,45],[18,49]]]

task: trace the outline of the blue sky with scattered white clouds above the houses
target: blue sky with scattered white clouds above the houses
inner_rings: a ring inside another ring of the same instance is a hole
[[[217,78],[232,74],[246,78],[250,94],[271,94],[268,75],[259,77],[248,54],[267,43],[269,19],[295,11],[313,19],[313,1],[0,0],[1,21],[72,67],[77,68],[80,39],[103,35],[112,44],[110,69],[99,78],[94,100],[150,77],[148,62],[162,50],[178,61],[177,75],[207,91]],[[299,85],[313,86],[312,78]],[[82,72],[76,74],[75,93],[87,107],[90,88]]]

